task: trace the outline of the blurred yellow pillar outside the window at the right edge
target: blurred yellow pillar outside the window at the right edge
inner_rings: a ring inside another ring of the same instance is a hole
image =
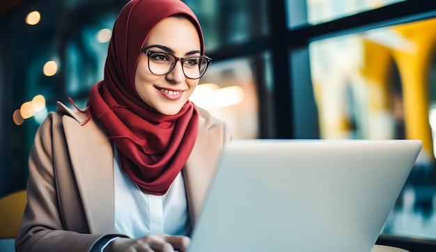
[[[432,32],[435,25],[435,20],[427,20],[396,26],[394,30],[414,46],[410,51],[392,50],[403,85],[406,137],[421,139],[423,150],[430,155],[433,153],[433,141],[428,123],[428,75],[436,39],[436,33]]]

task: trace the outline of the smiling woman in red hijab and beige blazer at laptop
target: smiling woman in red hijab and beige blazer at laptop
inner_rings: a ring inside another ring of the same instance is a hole
[[[188,100],[209,63],[182,1],[128,2],[88,107],[36,133],[17,251],[185,251],[231,139]]]

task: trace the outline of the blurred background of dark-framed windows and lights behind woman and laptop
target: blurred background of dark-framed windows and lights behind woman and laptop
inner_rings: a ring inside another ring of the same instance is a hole
[[[0,1],[0,197],[56,101],[85,107],[127,0]],[[436,241],[436,1],[185,0],[213,59],[192,101],[238,139],[421,139],[382,233]]]

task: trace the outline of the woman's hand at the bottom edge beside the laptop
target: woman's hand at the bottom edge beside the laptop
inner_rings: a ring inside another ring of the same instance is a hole
[[[148,235],[139,239],[118,238],[110,242],[104,252],[183,252],[191,239],[181,235]]]

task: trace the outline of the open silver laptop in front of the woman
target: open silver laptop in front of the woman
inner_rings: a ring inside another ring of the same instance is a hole
[[[234,140],[188,252],[370,252],[419,140]]]

